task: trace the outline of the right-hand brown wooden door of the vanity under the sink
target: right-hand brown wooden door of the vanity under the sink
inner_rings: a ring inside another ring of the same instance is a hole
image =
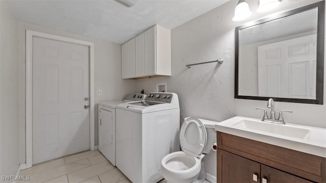
[[[289,173],[271,168],[266,165],[261,165],[261,182],[311,182],[306,179],[291,175]]]

